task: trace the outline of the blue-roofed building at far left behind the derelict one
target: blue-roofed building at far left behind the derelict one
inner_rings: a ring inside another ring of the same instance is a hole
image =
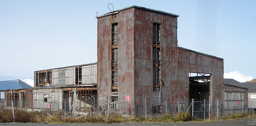
[[[5,90],[9,89],[21,89],[21,88],[31,88],[32,86],[23,82],[22,80],[9,80],[9,81],[0,81],[0,102],[4,102],[5,99]]]

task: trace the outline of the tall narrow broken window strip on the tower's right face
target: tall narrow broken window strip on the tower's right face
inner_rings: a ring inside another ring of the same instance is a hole
[[[153,23],[153,91],[161,91],[160,24]]]

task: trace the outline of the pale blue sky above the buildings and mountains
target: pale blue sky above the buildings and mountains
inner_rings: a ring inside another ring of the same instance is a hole
[[[0,1],[0,81],[97,62],[96,14],[132,5],[179,15],[178,44],[256,78],[256,1]]]

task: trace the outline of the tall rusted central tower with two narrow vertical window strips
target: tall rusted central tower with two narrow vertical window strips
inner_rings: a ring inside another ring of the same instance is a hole
[[[98,97],[111,97],[116,103],[113,109],[122,113],[126,112],[125,96],[130,95],[129,112],[140,114],[148,96],[147,112],[162,111],[162,92],[168,92],[171,82],[166,77],[172,74],[166,70],[176,67],[172,63],[177,51],[177,17],[138,6],[97,17]],[[98,102],[104,105],[103,100]]]

